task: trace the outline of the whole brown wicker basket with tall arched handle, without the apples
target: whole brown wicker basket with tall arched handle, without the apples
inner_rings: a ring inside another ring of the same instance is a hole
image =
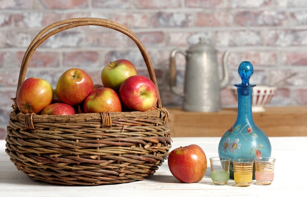
[[[125,26],[97,18],[59,21],[42,29],[26,50],[17,86],[25,80],[30,59],[50,36],[68,28],[98,25],[131,38],[141,51],[157,86],[148,52]],[[171,148],[168,112],[158,94],[148,112],[37,115],[13,111],[7,126],[6,153],[30,179],[61,185],[103,185],[143,180],[162,164]]]

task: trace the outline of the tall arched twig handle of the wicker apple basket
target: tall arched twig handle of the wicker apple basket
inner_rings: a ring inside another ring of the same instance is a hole
[[[150,56],[149,56],[147,50],[145,49],[145,47],[143,46],[143,44],[139,41],[139,39],[137,39],[137,37],[132,33],[132,31],[128,27],[121,25],[121,24],[118,24],[114,21],[110,21],[110,20],[107,20],[107,19],[100,19],[100,18],[67,19],[67,20],[55,22],[51,25],[46,26],[44,29],[42,29],[35,36],[35,38],[30,43],[30,45],[28,46],[28,48],[26,50],[25,56],[24,56],[22,64],[21,64],[20,73],[19,73],[17,91],[18,91],[20,85],[25,80],[26,71],[27,71],[29,62],[31,60],[31,57],[32,57],[34,51],[45,40],[47,40],[52,35],[54,35],[58,32],[61,32],[65,29],[73,28],[73,27],[76,27],[76,26],[84,26],[84,25],[97,25],[97,26],[104,26],[104,27],[108,27],[108,28],[111,28],[111,29],[115,29],[117,31],[124,33],[125,35],[127,35],[129,38],[131,38],[135,42],[135,44],[137,45],[138,49],[140,50],[140,52],[143,56],[143,59],[145,61],[145,64],[146,64],[146,67],[147,67],[147,70],[148,70],[148,73],[149,73],[149,76],[150,76],[151,80],[153,81],[154,85],[157,88],[157,92],[158,92],[157,107],[158,108],[162,107],[160,93],[159,93],[159,89],[158,89],[158,84],[157,84],[156,77],[155,77],[154,70],[153,70],[153,65],[152,65]],[[17,91],[16,91],[16,94],[17,94]]]

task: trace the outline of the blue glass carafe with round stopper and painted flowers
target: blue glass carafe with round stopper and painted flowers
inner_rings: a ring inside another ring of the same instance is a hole
[[[242,83],[234,85],[238,93],[238,115],[235,123],[220,140],[219,156],[230,157],[231,161],[237,158],[270,157],[272,149],[269,138],[254,123],[252,116],[252,93],[253,87],[256,86],[250,84],[250,78],[254,73],[252,63],[243,61],[239,65],[238,73],[242,79]],[[230,164],[230,178],[233,179],[232,163]]]

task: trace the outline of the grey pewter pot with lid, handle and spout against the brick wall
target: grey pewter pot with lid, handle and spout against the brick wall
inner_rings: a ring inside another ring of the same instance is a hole
[[[222,109],[220,91],[228,86],[229,75],[227,57],[223,55],[223,75],[219,78],[216,50],[206,45],[204,38],[188,50],[173,49],[170,55],[170,86],[173,93],[183,98],[182,109],[195,112],[216,112]],[[185,56],[185,80],[183,94],[176,89],[175,56],[181,53]]]

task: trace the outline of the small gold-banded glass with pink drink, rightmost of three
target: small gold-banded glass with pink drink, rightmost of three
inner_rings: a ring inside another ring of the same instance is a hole
[[[256,157],[255,179],[258,185],[270,185],[274,179],[275,159],[271,157]]]

